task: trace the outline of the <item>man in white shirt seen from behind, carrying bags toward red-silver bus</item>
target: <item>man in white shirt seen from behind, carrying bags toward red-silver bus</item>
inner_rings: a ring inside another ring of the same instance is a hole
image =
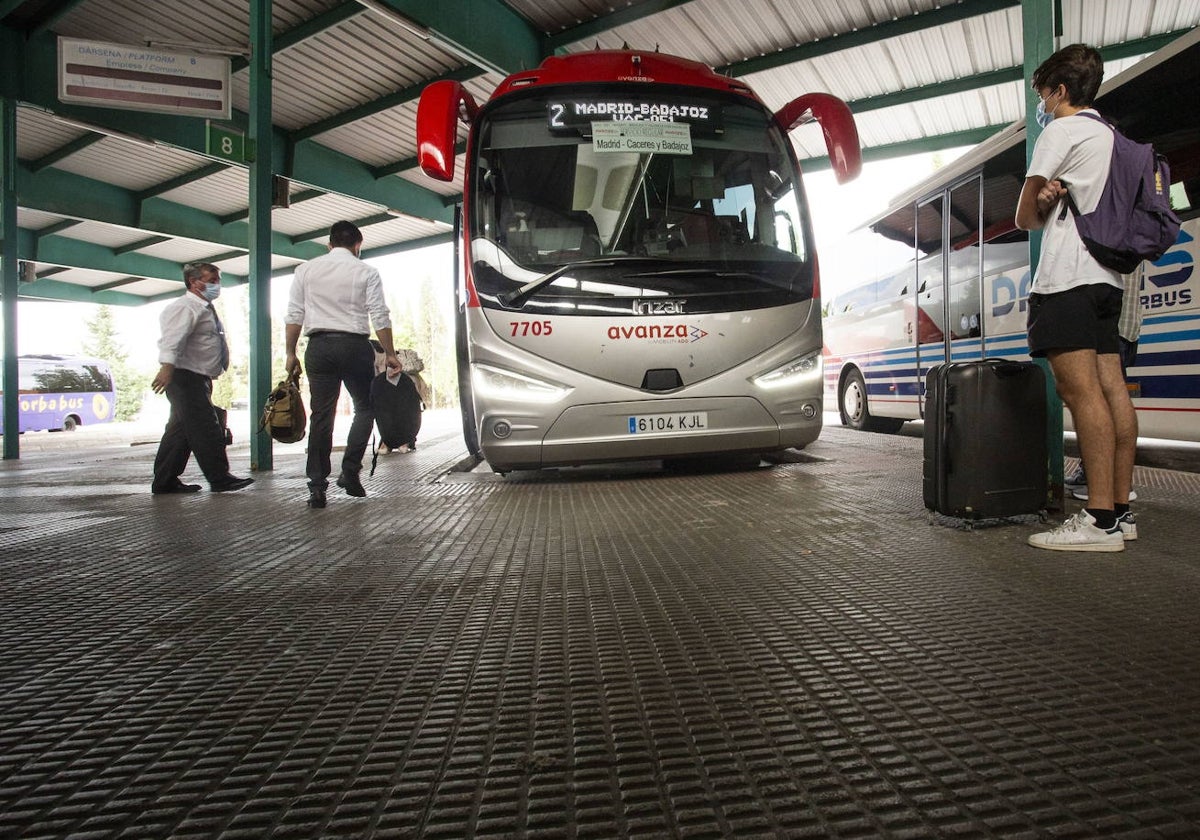
[[[371,326],[383,344],[389,371],[398,373],[401,370],[391,340],[391,317],[383,299],[383,280],[378,271],[359,259],[361,251],[362,232],[350,222],[335,222],[329,229],[329,253],[296,269],[288,298],[284,319],[288,373],[301,372],[296,344],[301,331],[308,338],[304,368],[308,371],[312,403],[306,468],[310,508],[325,506],[334,449],[334,410],[342,384],[354,403],[354,420],[346,439],[337,486],[349,496],[367,494],[359,473],[374,426]]]

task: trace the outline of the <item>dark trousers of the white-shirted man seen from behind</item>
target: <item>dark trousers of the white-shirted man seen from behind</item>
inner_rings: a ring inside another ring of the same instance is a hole
[[[342,385],[354,402],[354,420],[346,438],[342,472],[358,474],[367,451],[374,412],[371,408],[371,379],[374,378],[374,349],[366,336],[346,332],[317,332],[308,336],[304,354],[311,398],[308,419],[308,487],[329,486],[330,452],[334,451],[334,412]]]

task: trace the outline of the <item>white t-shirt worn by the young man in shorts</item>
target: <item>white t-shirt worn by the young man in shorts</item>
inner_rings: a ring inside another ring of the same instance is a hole
[[[1061,180],[1079,211],[1091,212],[1099,204],[1104,184],[1109,180],[1111,160],[1112,130],[1088,116],[1073,114],[1055,119],[1038,137],[1028,176]],[[1122,288],[1121,275],[1097,263],[1084,247],[1070,210],[1060,220],[1066,203],[1066,198],[1061,199],[1046,218],[1042,258],[1032,290],[1052,294],[1090,283]]]

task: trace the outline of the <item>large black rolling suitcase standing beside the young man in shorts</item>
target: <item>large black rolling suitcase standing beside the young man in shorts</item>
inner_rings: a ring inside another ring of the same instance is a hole
[[[925,379],[925,506],[982,520],[1046,506],[1046,390],[1028,361],[938,365]]]

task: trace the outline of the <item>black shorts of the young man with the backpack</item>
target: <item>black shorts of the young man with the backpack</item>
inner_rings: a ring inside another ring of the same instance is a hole
[[[1030,295],[1030,355],[1050,350],[1091,349],[1120,353],[1117,322],[1121,295],[1116,286],[1088,283],[1066,292]]]

